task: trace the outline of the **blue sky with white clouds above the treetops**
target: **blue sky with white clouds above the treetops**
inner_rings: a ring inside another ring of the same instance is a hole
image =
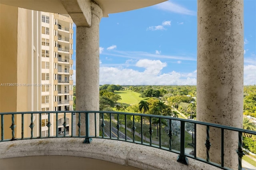
[[[76,83],[74,25],[74,84]],[[197,1],[109,14],[100,21],[100,85],[196,85]],[[256,0],[244,0],[244,85],[256,84]]]

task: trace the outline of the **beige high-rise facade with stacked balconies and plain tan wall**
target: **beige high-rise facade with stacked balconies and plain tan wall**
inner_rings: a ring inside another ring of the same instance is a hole
[[[68,15],[38,12],[0,4],[0,112],[73,110],[73,21]],[[12,15],[9,14],[11,12]],[[8,17],[5,17],[7,16]],[[16,49],[14,47],[17,47]],[[6,57],[3,57],[6,56]],[[71,114],[66,114],[67,129]],[[5,138],[11,116],[5,116]],[[15,117],[20,127],[21,117]],[[51,117],[51,133],[63,133],[64,114]],[[24,118],[30,124],[30,117]],[[42,136],[48,135],[48,114],[42,114]],[[34,132],[39,115],[34,114]],[[21,128],[16,128],[21,136]],[[67,132],[68,133],[68,132]],[[30,128],[24,129],[30,136]],[[34,134],[39,136],[39,134]]]

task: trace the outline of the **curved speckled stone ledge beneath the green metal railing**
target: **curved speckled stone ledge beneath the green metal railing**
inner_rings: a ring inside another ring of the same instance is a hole
[[[150,146],[100,138],[93,138],[90,144],[83,141],[84,138],[41,138],[1,142],[0,170],[46,167],[90,170],[220,169],[192,158],[188,158],[188,165],[181,164],[176,161],[178,154]]]

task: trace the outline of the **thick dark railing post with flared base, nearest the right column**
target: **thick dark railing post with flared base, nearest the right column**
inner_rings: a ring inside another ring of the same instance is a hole
[[[177,161],[188,164],[188,158],[185,156],[185,121],[180,121],[180,155]]]

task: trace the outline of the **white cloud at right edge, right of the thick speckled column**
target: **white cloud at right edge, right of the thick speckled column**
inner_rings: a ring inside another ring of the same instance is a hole
[[[256,65],[244,65],[244,85],[256,85]]]

